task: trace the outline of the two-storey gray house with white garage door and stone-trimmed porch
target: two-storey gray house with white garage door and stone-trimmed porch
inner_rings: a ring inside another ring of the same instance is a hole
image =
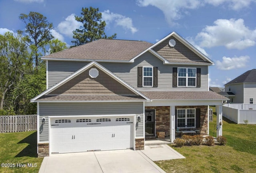
[[[221,124],[227,98],[208,91],[214,63],[176,32],[156,44],[100,39],[42,60],[48,89],[31,99],[38,156],[144,149],[158,131],[173,142],[185,126],[206,135],[208,105],[216,105]]]

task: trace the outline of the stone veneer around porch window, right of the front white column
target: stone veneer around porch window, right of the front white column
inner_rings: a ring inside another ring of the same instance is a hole
[[[201,135],[208,133],[208,106],[175,106],[175,109],[200,108],[200,128],[197,128]],[[176,123],[176,122],[175,122]]]

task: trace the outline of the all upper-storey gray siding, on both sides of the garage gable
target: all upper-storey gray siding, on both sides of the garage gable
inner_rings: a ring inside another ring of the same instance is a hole
[[[170,90],[170,91],[208,91],[208,66],[186,65],[174,66],[163,64],[162,60],[146,52],[134,60],[134,63],[108,63],[99,62],[102,66],[110,70],[116,76],[130,84],[138,90]],[[48,87],[60,82],[70,74],[76,72],[88,62],[70,62],[70,61],[48,61]],[[137,69],[138,66],[158,67],[158,87],[137,87]],[[173,67],[191,67],[201,68],[201,87],[172,87],[172,68]]]

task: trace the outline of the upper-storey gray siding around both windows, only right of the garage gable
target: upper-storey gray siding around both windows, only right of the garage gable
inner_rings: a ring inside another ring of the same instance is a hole
[[[116,74],[122,80],[130,84],[139,91],[161,90],[161,91],[208,91],[208,66],[174,66],[163,64],[162,60],[156,58],[149,52],[136,58],[134,63],[100,63],[102,66]],[[137,69],[139,66],[158,67],[158,87],[137,87]],[[201,87],[172,87],[172,68],[173,67],[191,67],[201,68]]]

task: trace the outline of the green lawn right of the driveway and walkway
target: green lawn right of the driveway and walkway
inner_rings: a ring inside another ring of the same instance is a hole
[[[210,135],[216,137],[216,112],[209,124]],[[225,146],[206,145],[173,147],[186,159],[157,161],[167,173],[252,173],[256,171],[256,125],[235,124],[223,118]]]

